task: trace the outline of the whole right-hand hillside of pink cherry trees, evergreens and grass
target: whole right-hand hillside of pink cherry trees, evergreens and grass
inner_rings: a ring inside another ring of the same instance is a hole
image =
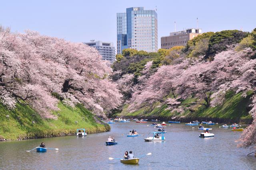
[[[214,112],[255,118],[255,58],[256,29],[203,33],[186,47],[157,53],[125,49],[112,65],[112,79],[123,94],[116,115],[180,119]],[[241,146],[256,144],[255,123],[244,131]]]

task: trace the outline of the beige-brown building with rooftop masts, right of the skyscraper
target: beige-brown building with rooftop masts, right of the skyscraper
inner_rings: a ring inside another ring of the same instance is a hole
[[[169,36],[161,37],[161,49],[170,49],[174,46],[185,46],[194,37],[202,34],[202,29],[186,29],[170,33]]]

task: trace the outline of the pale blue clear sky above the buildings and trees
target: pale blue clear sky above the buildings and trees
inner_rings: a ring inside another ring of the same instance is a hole
[[[196,2],[196,3],[195,3]],[[73,42],[112,41],[116,46],[116,13],[129,7],[157,6],[160,37],[196,27],[203,32],[256,27],[255,0],[5,0],[0,2],[0,25],[25,29]]]

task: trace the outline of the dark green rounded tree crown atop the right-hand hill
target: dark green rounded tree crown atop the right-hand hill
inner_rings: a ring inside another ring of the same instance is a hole
[[[225,30],[214,33],[209,40],[207,57],[213,57],[216,53],[224,51],[226,45],[240,43],[248,33],[238,30]]]

